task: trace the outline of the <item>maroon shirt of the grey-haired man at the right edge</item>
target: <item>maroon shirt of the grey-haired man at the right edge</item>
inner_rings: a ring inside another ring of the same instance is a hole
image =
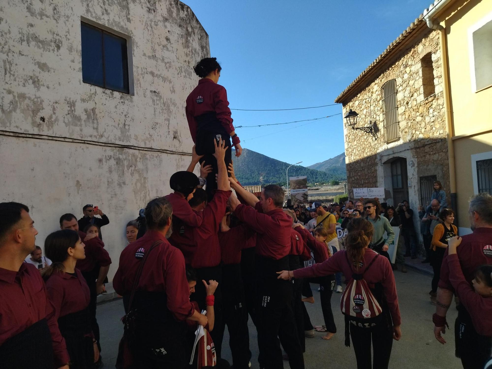
[[[456,249],[460,259],[461,270],[466,281],[471,285],[475,277],[475,270],[483,264],[492,264],[492,228],[477,228],[472,234],[462,237],[461,245]],[[441,266],[441,279],[438,286],[453,290],[449,280],[449,266],[447,262],[448,249],[444,252]]]

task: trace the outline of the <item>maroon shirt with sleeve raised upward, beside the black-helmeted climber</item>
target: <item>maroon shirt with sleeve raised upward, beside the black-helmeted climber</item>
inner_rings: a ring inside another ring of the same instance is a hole
[[[184,261],[193,268],[216,267],[220,264],[217,233],[231,192],[215,190],[212,201],[200,212],[203,213],[202,224],[199,227],[180,226],[179,237],[173,239],[172,244],[183,252]]]

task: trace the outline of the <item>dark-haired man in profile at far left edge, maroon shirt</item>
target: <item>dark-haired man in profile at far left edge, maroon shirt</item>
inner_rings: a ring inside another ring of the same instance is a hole
[[[0,203],[0,367],[68,369],[70,357],[46,286],[24,259],[37,231],[26,205]]]

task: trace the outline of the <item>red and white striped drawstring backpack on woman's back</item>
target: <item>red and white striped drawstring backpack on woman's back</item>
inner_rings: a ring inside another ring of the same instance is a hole
[[[379,254],[371,260],[364,273],[369,270],[378,256]],[[345,258],[352,270],[347,253],[345,253]],[[349,324],[360,328],[370,328],[381,321],[383,309],[364,279],[364,273],[353,273],[341,295],[340,308],[345,315],[345,346],[347,347],[350,346]]]

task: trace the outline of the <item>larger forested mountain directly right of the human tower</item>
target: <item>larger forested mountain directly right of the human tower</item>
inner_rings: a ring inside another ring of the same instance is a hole
[[[290,165],[289,163],[248,149],[243,149],[243,154],[240,157],[234,156],[233,151],[232,160],[236,177],[243,185],[260,184],[260,173],[265,173],[263,184],[287,184],[285,171]],[[293,165],[289,169],[289,177],[297,176],[307,176],[309,184],[328,183],[331,180],[341,181],[347,178],[345,166],[343,169],[334,167],[326,172]]]

